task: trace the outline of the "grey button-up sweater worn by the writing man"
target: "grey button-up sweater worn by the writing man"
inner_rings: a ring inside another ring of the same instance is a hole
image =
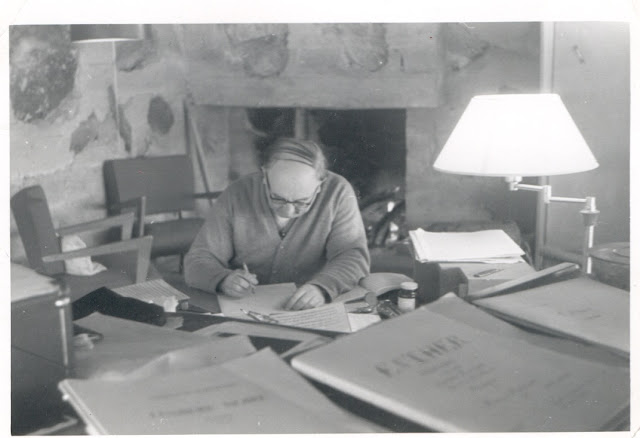
[[[185,257],[189,286],[215,292],[246,263],[260,284],[319,286],[331,298],[369,273],[369,251],[351,185],[329,172],[313,205],[281,236],[262,174],[245,176],[220,195]]]

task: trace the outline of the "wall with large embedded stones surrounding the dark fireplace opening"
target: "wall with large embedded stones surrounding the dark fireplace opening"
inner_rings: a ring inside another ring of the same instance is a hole
[[[407,108],[410,224],[504,216],[512,207],[502,185],[431,164],[471,96],[535,90],[537,30],[153,25],[149,39],[114,46],[72,44],[67,26],[12,27],[11,193],[41,184],[55,225],[103,217],[103,161],[184,153],[183,101],[192,97],[212,190],[257,169],[244,107]],[[16,259],[13,219],[11,230]]]

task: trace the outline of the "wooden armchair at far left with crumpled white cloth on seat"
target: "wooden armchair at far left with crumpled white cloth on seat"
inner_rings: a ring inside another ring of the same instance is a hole
[[[16,193],[11,198],[11,210],[31,268],[61,280],[69,287],[72,300],[103,286],[113,288],[146,280],[153,238],[131,238],[134,213],[55,229],[39,185]],[[64,253],[61,250],[62,236],[113,227],[121,228],[120,241]],[[91,276],[65,272],[65,260],[87,256],[99,258],[108,269]]]

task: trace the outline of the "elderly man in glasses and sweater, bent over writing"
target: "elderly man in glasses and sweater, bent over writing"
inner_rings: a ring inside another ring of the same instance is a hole
[[[289,310],[352,289],[370,259],[349,183],[312,141],[279,139],[263,161],[218,198],[185,258],[187,284],[239,298],[259,283],[294,282]]]

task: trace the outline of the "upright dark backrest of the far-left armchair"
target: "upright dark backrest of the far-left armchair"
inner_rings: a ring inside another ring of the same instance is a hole
[[[29,186],[11,197],[11,210],[31,268],[55,275],[64,272],[64,262],[44,263],[42,257],[61,252],[49,204],[40,186]]]

